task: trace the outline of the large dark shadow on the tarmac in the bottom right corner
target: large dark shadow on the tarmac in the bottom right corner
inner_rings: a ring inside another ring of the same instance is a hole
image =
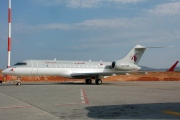
[[[180,103],[103,105],[86,107],[93,119],[180,119]]]

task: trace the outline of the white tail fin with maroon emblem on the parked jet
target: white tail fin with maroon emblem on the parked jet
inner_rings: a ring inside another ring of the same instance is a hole
[[[131,49],[131,51],[123,59],[121,59],[121,61],[132,63],[132,64],[138,64],[139,60],[141,59],[146,49],[147,47],[136,45],[135,47]]]

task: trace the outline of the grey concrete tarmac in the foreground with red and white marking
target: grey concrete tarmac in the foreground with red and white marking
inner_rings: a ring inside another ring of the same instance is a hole
[[[0,120],[180,119],[180,82],[0,84]]]

